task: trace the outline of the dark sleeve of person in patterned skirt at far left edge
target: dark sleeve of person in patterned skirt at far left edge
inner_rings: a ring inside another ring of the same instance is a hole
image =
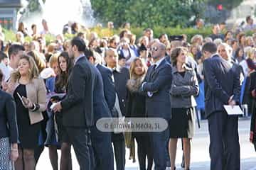
[[[16,120],[16,104],[14,98],[8,96],[6,99],[6,113],[10,131],[10,142],[18,142],[18,127]]]

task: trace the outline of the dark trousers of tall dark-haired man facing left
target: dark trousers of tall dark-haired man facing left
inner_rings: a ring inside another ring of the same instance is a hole
[[[92,152],[87,128],[66,127],[71,145],[75,150],[80,170],[92,170]]]

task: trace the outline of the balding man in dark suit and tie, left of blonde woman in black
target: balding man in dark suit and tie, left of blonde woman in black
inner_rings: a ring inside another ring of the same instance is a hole
[[[125,67],[119,69],[117,51],[109,49],[105,52],[105,62],[107,68],[112,72],[114,81],[114,94],[116,99],[112,109],[112,117],[120,118],[125,115],[125,103],[127,101],[127,81],[129,70]],[[125,166],[125,142],[124,134],[112,132],[112,142],[114,145],[114,156],[116,159],[117,170],[124,170]]]

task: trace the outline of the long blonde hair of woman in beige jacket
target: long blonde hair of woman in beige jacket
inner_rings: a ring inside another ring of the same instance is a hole
[[[28,78],[29,78],[29,80],[38,78],[38,76],[39,76],[38,67],[36,66],[36,62],[33,60],[33,58],[29,55],[23,55],[18,60],[18,62],[23,60],[23,59],[28,61],[28,64],[29,64],[29,67],[30,67],[28,69]],[[16,82],[20,78],[21,78],[21,74],[18,72],[18,70],[11,73],[11,81],[12,82]]]

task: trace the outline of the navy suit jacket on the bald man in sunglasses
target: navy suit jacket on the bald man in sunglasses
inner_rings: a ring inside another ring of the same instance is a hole
[[[144,79],[142,91],[154,91],[153,96],[146,97],[146,114],[149,118],[171,118],[171,64],[163,60],[154,71],[149,67]]]

